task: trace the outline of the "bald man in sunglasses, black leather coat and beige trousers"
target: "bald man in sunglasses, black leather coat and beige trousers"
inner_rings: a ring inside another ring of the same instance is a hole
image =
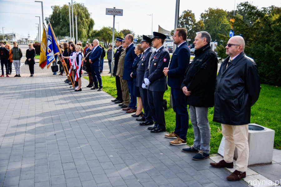
[[[221,123],[224,160],[210,163],[213,167],[233,168],[235,147],[238,151],[236,170],[227,177],[237,181],[246,177],[249,159],[248,124],[251,106],[259,98],[260,83],[255,61],[244,53],[245,42],[233,36],[226,45],[229,55],[221,64],[214,92],[214,122]]]

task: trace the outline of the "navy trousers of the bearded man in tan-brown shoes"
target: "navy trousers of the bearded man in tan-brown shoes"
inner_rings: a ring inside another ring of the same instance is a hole
[[[185,94],[181,89],[171,88],[173,109],[176,113],[175,134],[186,140],[188,129],[188,112],[185,104]]]

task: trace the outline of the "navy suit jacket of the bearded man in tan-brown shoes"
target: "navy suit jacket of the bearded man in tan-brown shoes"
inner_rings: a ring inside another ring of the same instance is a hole
[[[185,55],[178,55],[185,54]],[[180,89],[185,71],[190,61],[190,50],[187,43],[181,44],[174,52],[168,71],[168,85],[171,88]]]

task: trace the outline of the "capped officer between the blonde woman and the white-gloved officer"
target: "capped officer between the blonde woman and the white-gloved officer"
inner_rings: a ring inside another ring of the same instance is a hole
[[[136,86],[140,88],[140,93],[141,93],[141,102],[142,102],[142,106],[144,108],[145,111],[145,122],[140,123],[140,125],[153,125],[154,122],[152,120],[152,116],[151,116],[151,111],[150,111],[150,107],[148,104],[148,100],[147,100],[147,89],[143,89],[141,86],[143,83],[143,79],[144,79],[144,74],[145,74],[145,70],[148,67],[148,62],[149,62],[149,58],[150,55],[152,54],[152,52],[154,52],[154,50],[151,47],[151,42],[152,39],[148,36],[142,35],[142,41],[141,41],[141,47],[144,50],[142,56],[141,56],[141,61],[139,62],[138,65],[138,69],[137,69],[137,77],[136,77]]]

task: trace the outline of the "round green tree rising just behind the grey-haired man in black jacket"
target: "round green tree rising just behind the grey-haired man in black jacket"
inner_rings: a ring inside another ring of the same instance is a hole
[[[219,8],[209,8],[205,10],[205,13],[201,13],[201,20],[205,25],[205,30],[211,35],[212,41],[219,41],[218,34],[228,34],[231,27],[226,15],[227,12]]]

